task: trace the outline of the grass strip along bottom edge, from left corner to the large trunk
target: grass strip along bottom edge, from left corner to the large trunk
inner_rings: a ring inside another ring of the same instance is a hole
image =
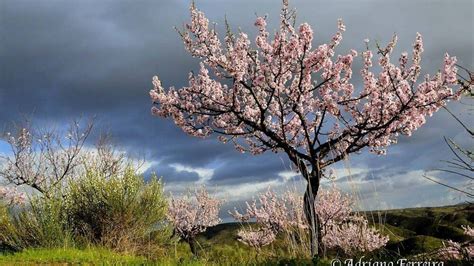
[[[179,245],[178,251],[183,250],[184,245]],[[100,248],[80,249],[28,249],[18,253],[3,254],[0,256],[0,265],[183,265],[183,266],[207,266],[207,265],[313,265],[310,259],[304,258],[280,258],[262,254],[256,258],[255,253],[250,255],[241,248],[229,246],[215,246],[199,259],[185,255],[174,256],[171,252],[156,260],[147,260],[144,257],[130,256],[114,253]],[[330,260],[322,260],[318,265],[330,265]]]

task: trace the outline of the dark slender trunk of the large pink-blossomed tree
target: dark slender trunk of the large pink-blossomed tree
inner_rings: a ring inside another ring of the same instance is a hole
[[[311,256],[321,256],[323,255],[322,230],[314,206],[316,196],[318,195],[321,172],[313,171],[308,176],[305,176],[305,178],[308,184],[304,194],[304,213],[310,229]]]

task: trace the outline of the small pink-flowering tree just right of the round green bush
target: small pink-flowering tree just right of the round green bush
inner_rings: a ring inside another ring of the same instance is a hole
[[[204,188],[195,191],[194,198],[171,198],[167,217],[174,228],[173,235],[188,243],[194,256],[198,255],[196,236],[221,221],[221,204],[220,200],[212,198]]]

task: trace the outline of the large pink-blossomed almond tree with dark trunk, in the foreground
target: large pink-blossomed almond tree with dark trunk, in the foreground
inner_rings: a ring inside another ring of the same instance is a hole
[[[363,85],[351,82],[352,63],[359,53],[335,55],[345,26],[331,41],[313,47],[307,23],[295,27],[295,12],[283,1],[280,27],[270,37],[265,17],[258,17],[251,45],[244,32],[228,27],[223,41],[204,13],[191,5],[191,22],[180,31],[188,52],[201,59],[189,85],[165,91],[153,77],[152,113],[170,117],[196,137],[219,135],[241,152],[284,152],[307,181],[306,219],[311,225],[311,250],[317,253],[318,219],[314,199],[322,170],[368,147],[384,154],[400,134],[411,135],[450,99],[460,95],[456,58],[445,55],[441,71],[421,73],[423,41],[416,35],[411,56],[391,61],[397,42],[377,45],[379,73],[372,71],[374,53],[361,54]],[[470,86],[471,84],[469,84]]]

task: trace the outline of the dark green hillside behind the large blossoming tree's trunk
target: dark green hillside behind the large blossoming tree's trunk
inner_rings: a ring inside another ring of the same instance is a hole
[[[474,226],[474,204],[372,211],[363,213],[371,224],[390,237],[385,252],[394,256],[412,256],[433,251],[443,241],[468,240],[461,225]],[[204,246],[242,246],[236,244],[239,223],[210,228],[200,237]],[[270,249],[279,249],[277,241]]]

